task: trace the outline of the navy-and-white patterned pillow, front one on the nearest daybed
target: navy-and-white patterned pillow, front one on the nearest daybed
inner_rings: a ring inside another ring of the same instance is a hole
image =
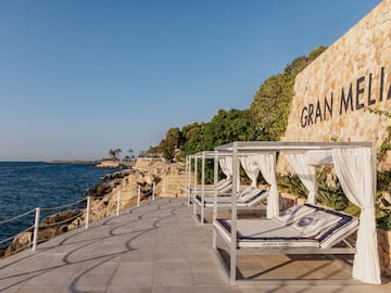
[[[299,231],[302,237],[311,238],[329,229],[340,219],[337,215],[324,211],[316,211],[298,219],[292,227]]]

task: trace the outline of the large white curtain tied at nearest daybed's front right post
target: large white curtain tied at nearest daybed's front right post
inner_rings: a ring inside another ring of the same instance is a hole
[[[360,206],[360,227],[356,253],[353,263],[353,278],[363,282],[380,284],[380,266],[375,225],[375,190],[371,166],[371,150],[332,150],[336,174],[348,199]]]

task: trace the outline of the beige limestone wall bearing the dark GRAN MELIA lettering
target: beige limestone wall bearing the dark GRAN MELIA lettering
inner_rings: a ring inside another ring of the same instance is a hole
[[[391,119],[391,0],[383,0],[297,77],[286,141],[376,141]]]

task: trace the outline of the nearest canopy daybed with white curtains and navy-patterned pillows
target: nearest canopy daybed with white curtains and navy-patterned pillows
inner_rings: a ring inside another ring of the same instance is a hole
[[[274,209],[269,209],[270,213],[265,220],[238,220],[236,196],[232,196],[232,213],[230,220],[224,221],[217,219],[217,209],[216,207],[214,208],[213,246],[220,259],[223,259],[223,257],[216,249],[216,235],[220,235],[224,242],[229,246],[228,253],[230,265],[227,270],[229,271],[230,282],[232,284],[237,282],[236,269],[238,253],[346,253],[348,251],[352,251],[352,249],[348,247],[338,251],[338,249],[333,247],[333,244],[343,239],[344,235],[355,231],[355,229],[357,229],[357,240],[354,250],[355,256],[352,276],[354,279],[362,282],[373,284],[381,283],[375,225],[376,148],[373,143],[234,142],[218,146],[215,151],[216,155],[218,152],[230,152],[232,154],[232,170],[237,169],[239,156],[242,154],[254,154],[255,152],[258,152],[260,154],[265,155],[282,152],[283,154],[287,154],[288,161],[293,165],[299,178],[303,180],[303,183],[310,190],[308,204],[306,204],[306,208],[310,211],[307,211],[307,213],[310,214],[303,214],[301,217],[289,224],[281,224],[278,218],[283,215],[275,213],[278,211],[278,193],[277,195],[272,193],[268,195],[267,204],[274,205]],[[314,166],[323,164],[332,164],[335,166],[336,174],[348,199],[362,209],[360,225],[358,220],[352,216],[316,207],[314,205],[317,188]],[[270,167],[268,175],[272,175],[272,173],[275,173],[275,168]],[[234,171],[232,190],[236,189],[237,176],[238,174]],[[216,196],[214,200],[217,201]],[[325,213],[328,215],[327,217],[325,216]],[[320,214],[323,215],[320,216]],[[303,228],[300,226],[304,226],[304,229],[306,229],[306,225],[300,225],[300,221],[303,224],[304,221],[307,221],[308,218],[311,220],[314,218],[323,219],[318,225],[321,229],[318,227],[318,230],[315,230],[314,232],[314,227],[311,227],[311,233],[300,230]],[[325,219],[327,220],[325,221]],[[265,229],[262,226],[265,225],[266,221],[269,227],[272,227],[270,225],[274,225],[273,227],[275,227],[275,229],[272,229],[274,232],[268,234],[265,233]],[[348,228],[343,228],[343,224],[346,225]],[[297,227],[294,227],[294,225]],[[337,226],[340,226],[340,230],[337,229]],[[257,231],[254,232],[254,228]],[[276,234],[276,231],[279,231],[279,234]],[[253,240],[257,241],[250,241],[248,238],[245,239],[247,234],[251,234]],[[298,235],[300,235],[301,239],[298,239]],[[280,242],[276,241],[276,237],[279,238]],[[291,239],[289,240],[289,238]],[[273,244],[270,244],[272,242]]]

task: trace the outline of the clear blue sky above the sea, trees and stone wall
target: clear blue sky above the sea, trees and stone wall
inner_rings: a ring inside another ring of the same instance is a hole
[[[138,153],[248,109],[380,0],[1,0],[0,160]]]

